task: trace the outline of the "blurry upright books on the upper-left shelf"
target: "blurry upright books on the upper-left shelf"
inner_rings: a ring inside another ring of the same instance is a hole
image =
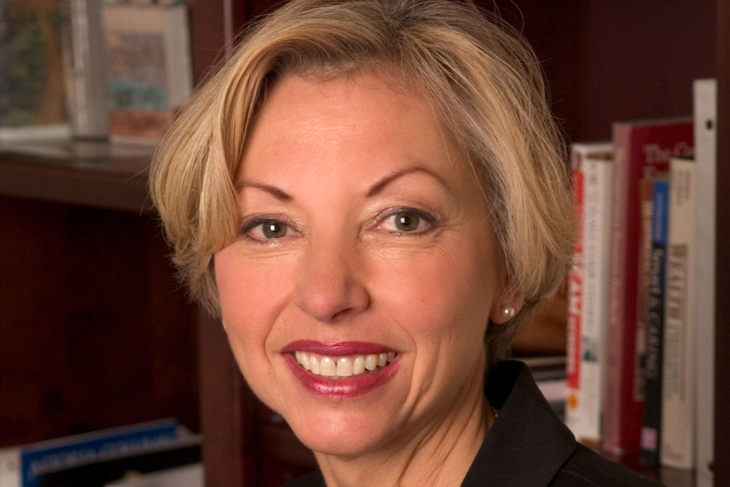
[[[174,1],[0,2],[0,145],[153,144],[193,90],[188,8]]]

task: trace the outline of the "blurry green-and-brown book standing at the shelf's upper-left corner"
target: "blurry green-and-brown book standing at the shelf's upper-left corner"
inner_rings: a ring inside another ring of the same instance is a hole
[[[69,137],[60,0],[0,2],[0,145]]]

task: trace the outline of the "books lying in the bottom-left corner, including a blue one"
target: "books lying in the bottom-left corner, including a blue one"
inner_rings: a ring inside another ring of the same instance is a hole
[[[201,436],[175,419],[0,450],[0,487],[202,487]]]

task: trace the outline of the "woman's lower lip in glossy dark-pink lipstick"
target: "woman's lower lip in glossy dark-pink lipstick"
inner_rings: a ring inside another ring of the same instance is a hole
[[[397,356],[388,367],[385,367],[374,374],[365,374],[349,379],[325,379],[320,375],[307,372],[301,367],[296,359],[290,354],[284,354],[284,363],[289,367],[294,377],[299,380],[301,386],[312,394],[323,397],[341,399],[345,397],[356,397],[367,394],[370,391],[383,386],[393,375],[396,375],[400,367],[400,356]]]

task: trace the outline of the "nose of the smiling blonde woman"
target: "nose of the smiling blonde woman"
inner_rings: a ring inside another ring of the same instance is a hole
[[[348,248],[349,247],[349,248]],[[368,307],[363,264],[356,248],[331,242],[310,247],[296,286],[294,303],[323,323],[339,323]]]

